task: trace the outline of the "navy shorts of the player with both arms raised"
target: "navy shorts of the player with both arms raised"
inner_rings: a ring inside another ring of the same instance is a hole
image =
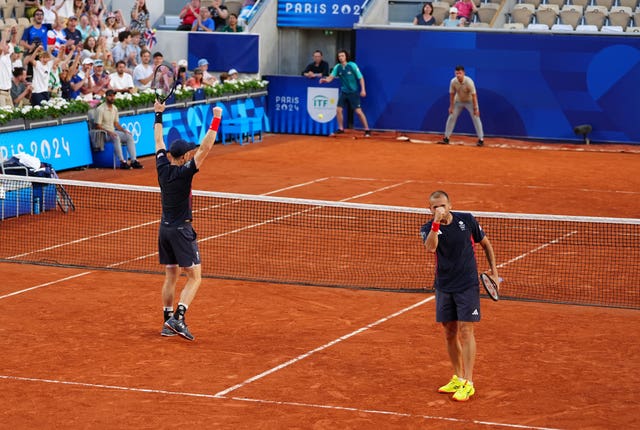
[[[158,234],[160,264],[191,267],[200,264],[200,250],[193,226],[185,223],[178,227],[160,226]]]

